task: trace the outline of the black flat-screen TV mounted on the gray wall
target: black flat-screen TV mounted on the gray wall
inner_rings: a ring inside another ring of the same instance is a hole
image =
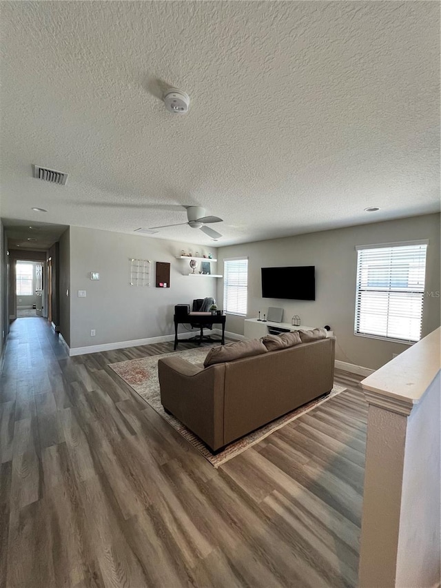
[[[262,267],[262,297],[315,300],[315,265]]]

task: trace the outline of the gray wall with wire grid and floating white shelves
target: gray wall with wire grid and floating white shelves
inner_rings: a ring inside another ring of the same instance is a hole
[[[70,347],[172,334],[175,304],[216,297],[217,278],[183,275],[190,272],[188,261],[176,256],[191,249],[216,257],[213,247],[70,227]],[[150,287],[130,285],[130,258],[152,262]],[[170,288],[155,287],[156,261],[171,264]],[[90,272],[99,272],[100,280],[91,281]],[[78,290],[87,296],[79,298]]]

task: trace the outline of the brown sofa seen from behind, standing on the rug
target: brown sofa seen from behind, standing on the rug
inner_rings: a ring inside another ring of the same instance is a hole
[[[334,337],[208,367],[170,356],[158,361],[161,402],[216,452],[330,392],[334,358]]]

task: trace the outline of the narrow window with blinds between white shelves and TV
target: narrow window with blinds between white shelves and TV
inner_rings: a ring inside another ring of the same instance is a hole
[[[223,269],[223,310],[247,316],[248,259],[225,259]]]

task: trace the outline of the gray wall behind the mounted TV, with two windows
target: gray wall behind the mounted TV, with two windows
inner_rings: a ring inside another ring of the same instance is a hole
[[[407,349],[403,343],[391,343],[353,334],[355,315],[356,245],[429,239],[427,250],[426,291],[440,292],[440,214],[373,223],[332,231],[323,231],[259,241],[218,249],[218,271],[223,259],[248,256],[248,317],[258,310],[283,307],[283,320],[298,314],[303,325],[330,325],[337,337],[336,358],[340,361],[377,369],[391,360],[393,353]],[[285,301],[261,297],[260,268],[283,265],[316,266],[316,301]],[[223,284],[218,284],[218,305],[223,305]],[[242,317],[228,316],[226,329],[243,334]],[[440,326],[440,298],[424,298],[422,336]]]

